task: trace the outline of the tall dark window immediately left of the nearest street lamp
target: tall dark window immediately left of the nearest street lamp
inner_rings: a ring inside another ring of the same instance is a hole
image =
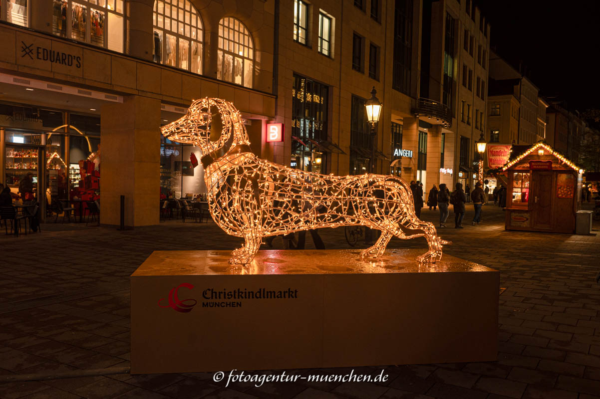
[[[350,174],[368,173],[373,136],[369,133],[365,99],[352,96],[350,104]]]

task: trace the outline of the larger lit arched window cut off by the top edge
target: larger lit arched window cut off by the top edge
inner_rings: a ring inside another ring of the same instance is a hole
[[[202,74],[202,19],[188,0],[155,0],[154,62]]]

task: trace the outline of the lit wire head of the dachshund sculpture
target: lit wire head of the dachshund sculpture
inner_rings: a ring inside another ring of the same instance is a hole
[[[171,141],[200,147],[202,155],[224,155],[235,145],[250,144],[239,111],[220,98],[193,101],[184,116],[160,130]]]

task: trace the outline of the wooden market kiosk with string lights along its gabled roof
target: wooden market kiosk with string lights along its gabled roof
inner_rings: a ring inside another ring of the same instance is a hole
[[[508,174],[506,229],[575,232],[583,170],[548,144],[513,146]]]

